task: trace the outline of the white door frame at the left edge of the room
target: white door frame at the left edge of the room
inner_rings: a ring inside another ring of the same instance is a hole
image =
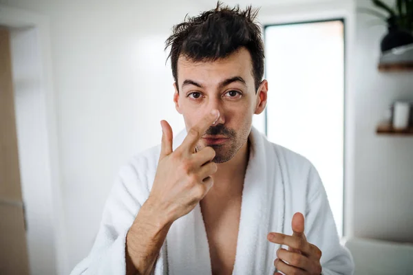
[[[45,263],[50,263],[56,267],[56,274],[66,274],[66,239],[58,150],[56,95],[52,80],[49,19],[41,14],[0,5],[0,25],[11,30],[11,33],[31,32],[31,37],[34,39],[30,40],[31,43],[33,43],[30,47],[35,49],[33,54],[36,55],[36,58],[33,59],[33,62],[36,64],[25,67],[25,69],[36,69],[36,75],[39,76],[39,79],[36,79],[38,80],[38,87],[36,87],[36,94],[34,95],[36,96],[36,100],[33,100],[30,109],[25,110],[26,117],[30,115],[28,112],[31,112],[37,118],[40,116],[40,119],[33,120],[34,124],[31,124],[31,128],[36,129],[36,136],[40,137],[35,138],[32,144],[30,144],[32,148],[36,148],[36,157],[30,157],[24,152],[19,152],[19,165],[21,168],[23,199],[25,192],[30,192],[30,186],[31,189],[41,188],[41,192],[37,192],[36,196],[32,196],[31,202],[29,203],[28,201],[25,205],[28,233],[30,230],[32,230],[32,232],[36,231],[36,227],[39,228],[40,217],[40,229],[45,233],[41,238],[45,238],[45,236],[52,238],[52,240],[50,240],[52,245],[44,248],[50,251],[47,251],[45,254],[53,255],[54,259],[42,259],[41,255],[36,255],[36,257],[30,259],[31,243],[33,245],[35,243],[39,245],[41,239],[39,239],[39,237],[34,239],[33,236],[31,238],[30,234],[27,234],[30,271],[34,273],[41,270]],[[13,46],[11,50],[13,52]],[[21,66],[25,65],[21,64]],[[17,68],[14,67],[14,69]],[[37,69],[40,69],[40,72],[38,72]],[[17,109],[16,112],[16,117],[18,117],[19,111]],[[19,136],[19,125],[17,125],[17,135]],[[20,142],[19,138],[18,142]],[[42,169],[37,169],[35,175],[32,175],[34,167],[39,167],[39,163],[42,164]],[[39,186],[39,184],[41,186]],[[47,208],[51,208],[46,210],[45,205],[47,205]],[[33,215],[34,219],[30,219],[30,215]],[[36,217],[37,222],[35,222]],[[48,231],[44,232],[44,228],[47,228]],[[49,235],[49,233],[52,234]],[[35,259],[33,260],[33,258]]]

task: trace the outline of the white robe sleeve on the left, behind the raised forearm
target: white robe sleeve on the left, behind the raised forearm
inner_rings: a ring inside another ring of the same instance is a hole
[[[127,182],[138,186],[136,179],[136,173],[130,166],[121,170],[105,203],[93,248],[89,255],[76,265],[72,275],[126,273],[126,234],[141,206],[138,199],[131,195]]]

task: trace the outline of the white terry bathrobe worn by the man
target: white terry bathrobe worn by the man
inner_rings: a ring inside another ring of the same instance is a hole
[[[174,149],[186,134],[182,131],[173,140]],[[295,212],[304,214],[307,240],[323,253],[322,274],[352,274],[352,258],[339,244],[326,192],[314,166],[301,155],[268,142],[254,128],[249,139],[233,274],[272,275],[280,245],[270,243],[266,236],[268,232],[293,234],[291,220]],[[73,275],[125,274],[125,236],[149,196],[159,155],[160,146],[151,148],[120,171],[92,251],[74,268]],[[171,225],[151,274],[211,275],[199,203]]]

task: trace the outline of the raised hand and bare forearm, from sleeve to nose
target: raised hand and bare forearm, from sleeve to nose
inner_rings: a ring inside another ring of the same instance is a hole
[[[211,124],[218,110],[198,122],[176,151],[172,151],[172,129],[162,120],[162,145],[158,168],[149,198],[140,208],[126,236],[127,274],[152,274],[173,221],[190,212],[211,188],[211,175],[217,165],[211,160],[215,151],[205,147],[194,153],[195,145]]]

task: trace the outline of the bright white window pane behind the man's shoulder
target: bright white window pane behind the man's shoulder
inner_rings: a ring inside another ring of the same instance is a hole
[[[266,26],[268,140],[308,158],[343,235],[344,23]]]

